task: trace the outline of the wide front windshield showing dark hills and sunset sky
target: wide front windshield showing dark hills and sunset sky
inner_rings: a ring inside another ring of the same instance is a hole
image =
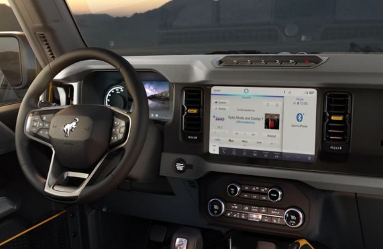
[[[67,0],[89,46],[121,55],[382,52],[382,0]]]

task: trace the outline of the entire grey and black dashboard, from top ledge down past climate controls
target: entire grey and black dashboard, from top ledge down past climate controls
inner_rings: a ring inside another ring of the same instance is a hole
[[[250,55],[126,57],[149,101],[169,85],[169,100],[150,113],[163,136],[153,171],[169,188],[129,183],[100,205],[222,231],[320,242],[335,233],[331,248],[363,248],[361,233],[378,238],[368,231],[383,205],[383,55],[260,57],[266,63]],[[132,110],[112,70],[84,62],[55,81],[74,86],[75,104]],[[142,205],[142,192],[151,205]]]

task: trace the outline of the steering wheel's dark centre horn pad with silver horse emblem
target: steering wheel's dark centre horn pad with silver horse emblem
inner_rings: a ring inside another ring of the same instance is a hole
[[[107,152],[113,124],[104,106],[74,105],[56,113],[50,123],[50,142],[61,165],[85,169]]]

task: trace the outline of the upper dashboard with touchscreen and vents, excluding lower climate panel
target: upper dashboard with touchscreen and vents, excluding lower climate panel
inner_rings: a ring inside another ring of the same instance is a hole
[[[165,121],[162,165],[168,166],[161,167],[161,174],[180,176],[170,165],[183,157],[201,165],[183,173],[193,179],[211,171],[241,170],[303,180],[324,189],[331,183],[332,190],[360,183],[361,191],[379,193],[380,178],[367,179],[383,176],[377,166],[383,159],[383,131],[374,125],[383,124],[383,118],[365,107],[383,105],[380,57],[335,53],[126,59],[143,84],[157,86],[157,92],[167,91],[164,86],[169,84],[165,108],[152,105],[150,113],[152,119]],[[220,66],[228,60],[229,66]],[[278,63],[268,65],[271,60]],[[360,63],[366,65],[363,70]],[[112,93],[108,102],[108,91],[124,87],[124,82],[102,62],[68,67],[55,81],[76,86],[74,103],[120,105],[127,110],[134,106],[125,91]],[[374,117],[374,122],[367,117]]]

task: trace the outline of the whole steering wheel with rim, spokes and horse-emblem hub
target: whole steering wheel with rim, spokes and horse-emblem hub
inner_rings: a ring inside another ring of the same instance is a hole
[[[131,113],[101,105],[38,107],[39,97],[59,72],[90,59],[109,63],[122,74],[134,101]],[[16,121],[18,161],[28,181],[48,198],[89,202],[113,190],[126,178],[144,146],[148,125],[146,92],[133,66],[106,49],[77,49],[50,62],[28,88]],[[52,149],[46,177],[33,163],[32,140]],[[118,157],[117,166],[109,174],[100,174],[107,168],[101,166],[106,163],[105,158],[120,150],[123,155]]]

